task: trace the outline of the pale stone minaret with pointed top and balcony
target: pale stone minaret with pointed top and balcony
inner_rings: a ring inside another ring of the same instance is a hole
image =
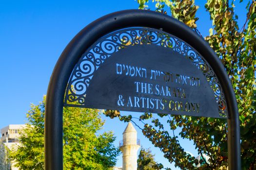
[[[122,170],[137,170],[137,152],[139,141],[137,141],[137,131],[131,122],[128,123],[123,132],[123,141],[119,144],[123,153]]]

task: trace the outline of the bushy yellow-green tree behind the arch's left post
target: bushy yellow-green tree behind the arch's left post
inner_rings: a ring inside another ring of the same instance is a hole
[[[31,105],[28,123],[20,134],[21,145],[11,153],[20,170],[44,169],[45,97],[39,105]],[[119,149],[113,145],[112,132],[97,135],[104,121],[99,110],[64,107],[64,170],[109,170],[115,166]]]

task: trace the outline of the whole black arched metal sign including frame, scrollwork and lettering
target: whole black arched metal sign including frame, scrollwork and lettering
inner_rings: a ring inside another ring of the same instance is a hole
[[[63,106],[225,118],[229,168],[240,169],[238,109],[225,69],[201,37],[172,17],[116,12],[69,43],[47,91],[46,170],[63,169]]]

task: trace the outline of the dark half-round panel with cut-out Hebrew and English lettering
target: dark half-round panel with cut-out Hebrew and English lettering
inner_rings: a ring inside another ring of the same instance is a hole
[[[219,118],[214,91],[184,55],[156,45],[129,46],[93,74],[83,107]]]

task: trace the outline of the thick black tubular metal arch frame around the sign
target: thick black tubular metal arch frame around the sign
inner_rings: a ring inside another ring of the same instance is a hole
[[[240,126],[236,96],[229,77],[211,47],[178,20],[146,10],[125,10],[101,17],[86,26],[59,57],[48,86],[45,108],[45,170],[63,169],[63,101],[66,85],[81,55],[105,34],[128,27],[162,29],[197,50],[213,68],[224,91],[228,107],[228,166],[241,169]]]

